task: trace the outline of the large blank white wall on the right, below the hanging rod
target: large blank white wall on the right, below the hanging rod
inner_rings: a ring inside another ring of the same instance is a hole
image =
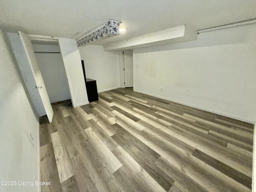
[[[246,122],[256,120],[256,24],[134,50],[134,90]],[[160,92],[160,88],[163,91]]]

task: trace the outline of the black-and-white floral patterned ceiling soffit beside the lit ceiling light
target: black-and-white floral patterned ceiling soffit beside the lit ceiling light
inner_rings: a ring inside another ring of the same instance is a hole
[[[77,46],[86,46],[91,42],[100,41],[119,35],[119,21],[109,20],[103,26],[98,27],[95,31],[83,35],[76,40]]]

